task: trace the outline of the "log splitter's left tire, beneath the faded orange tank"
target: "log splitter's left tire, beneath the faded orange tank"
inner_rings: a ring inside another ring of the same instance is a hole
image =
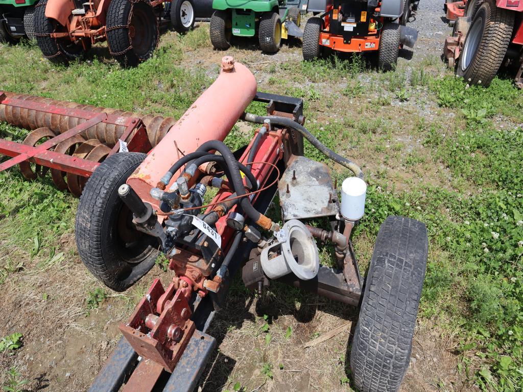
[[[145,156],[117,153],[108,157],[87,181],[78,203],[75,234],[80,258],[115,291],[128,289],[156,261],[157,241],[132,226],[132,213],[118,196],[118,187]]]

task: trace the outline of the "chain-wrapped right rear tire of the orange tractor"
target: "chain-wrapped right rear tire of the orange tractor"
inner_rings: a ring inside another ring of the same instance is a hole
[[[107,10],[107,44],[122,67],[134,67],[149,59],[159,35],[158,20],[149,3],[111,0]]]

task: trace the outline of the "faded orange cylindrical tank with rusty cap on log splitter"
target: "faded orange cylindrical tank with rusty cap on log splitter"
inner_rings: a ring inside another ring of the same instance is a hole
[[[243,64],[234,63],[232,57],[223,57],[218,78],[169,129],[127,183],[142,200],[157,205],[158,201],[152,199],[149,192],[165,172],[203,143],[223,141],[255,95],[256,79],[251,71]],[[177,174],[173,176],[166,189],[177,177]]]

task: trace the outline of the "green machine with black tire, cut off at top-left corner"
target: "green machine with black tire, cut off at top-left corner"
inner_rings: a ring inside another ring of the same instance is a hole
[[[36,3],[38,0],[0,0],[0,43],[35,37]]]

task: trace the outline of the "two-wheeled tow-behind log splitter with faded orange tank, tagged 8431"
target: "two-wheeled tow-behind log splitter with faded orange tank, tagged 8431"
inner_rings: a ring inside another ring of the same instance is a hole
[[[245,112],[253,100],[267,103],[266,116]],[[259,128],[233,152],[223,140],[238,120]],[[156,279],[120,325],[123,338],[91,392],[194,390],[215,347],[206,331],[238,270],[258,293],[278,280],[360,306],[352,381],[365,391],[400,388],[425,275],[425,225],[388,217],[363,285],[351,243],[365,207],[362,171],[303,124],[301,99],[257,93],[252,73],[224,57],[217,80],[148,154],[110,154],[86,176],[75,229],[87,268],[116,291],[142,278],[159,251],[174,271],[165,289]],[[325,164],[303,156],[303,138],[354,177],[338,189]],[[51,152],[38,148],[27,147],[25,158],[52,164],[42,158]],[[209,188],[217,189],[212,200]],[[281,222],[266,215],[275,194]],[[307,224],[319,218],[327,229]],[[334,245],[334,268],[320,264],[316,241]]]

